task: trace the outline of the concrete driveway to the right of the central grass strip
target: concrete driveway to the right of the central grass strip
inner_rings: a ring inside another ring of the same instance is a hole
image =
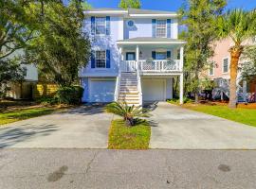
[[[256,128],[166,102],[151,108],[151,148],[256,149]]]

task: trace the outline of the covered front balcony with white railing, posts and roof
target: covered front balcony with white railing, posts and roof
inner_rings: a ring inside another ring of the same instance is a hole
[[[119,41],[121,72],[140,75],[174,75],[183,71],[185,42],[166,38],[135,38]]]

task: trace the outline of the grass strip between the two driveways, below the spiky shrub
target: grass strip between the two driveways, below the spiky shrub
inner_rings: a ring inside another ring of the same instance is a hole
[[[148,149],[151,128],[147,121],[140,121],[134,127],[127,127],[123,120],[112,121],[109,131],[109,149]]]

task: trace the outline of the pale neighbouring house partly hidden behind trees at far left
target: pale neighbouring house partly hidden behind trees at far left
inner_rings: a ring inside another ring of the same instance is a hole
[[[17,50],[11,54],[10,57],[22,55],[23,49]],[[10,58],[9,57],[9,58]],[[34,93],[34,87],[38,81],[38,71],[34,64],[21,64],[21,67],[25,71],[25,77],[22,82],[9,83],[10,91],[7,96],[14,99],[32,99]]]

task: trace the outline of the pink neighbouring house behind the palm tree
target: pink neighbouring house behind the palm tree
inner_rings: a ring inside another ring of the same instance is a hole
[[[247,40],[244,45],[256,44],[255,39]],[[229,99],[229,66],[230,53],[229,48],[233,45],[231,39],[225,39],[214,43],[214,56],[211,58],[212,65],[210,66],[207,75],[215,81],[215,89],[212,97],[215,99]],[[246,60],[240,60],[241,66]],[[237,95],[238,101],[255,101],[256,82],[247,82],[241,77],[241,72],[237,77]]]

